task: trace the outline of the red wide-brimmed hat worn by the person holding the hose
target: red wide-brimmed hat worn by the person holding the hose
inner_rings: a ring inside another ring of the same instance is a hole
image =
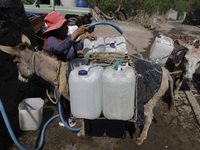
[[[70,20],[66,20],[59,11],[51,12],[44,18],[44,21],[48,26],[48,29],[45,31],[45,33],[59,29],[65,22],[70,22]]]

